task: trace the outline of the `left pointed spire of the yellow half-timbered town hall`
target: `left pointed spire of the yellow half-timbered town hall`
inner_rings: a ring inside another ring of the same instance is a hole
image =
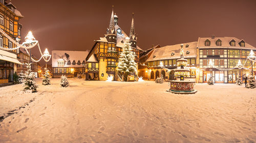
[[[116,43],[116,31],[115,31],[115,21],[114,21],[114,9],[112,9],[112,14],[110,18],[110,26],[106,33],[106,39],[108,42]]]

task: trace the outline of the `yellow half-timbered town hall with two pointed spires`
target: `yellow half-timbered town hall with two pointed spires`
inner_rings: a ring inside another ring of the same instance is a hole
[[[114,80],[118,80],[118,58],[122,52],[125,40],[131,43],[134,54],[136,55],[135,61],[139,62],[139,52],[143,51],[137,46],[137,36],[135,34],[134,19],[130,35],[127,36],[121,27],[118,25],[118,16],[112,11],[109,28],[103,38],[95,41],[94,46],[90,50],[87,61],[87,80],[107,80],[108,76],[113,76]],[[137,73],[136,73],[137,74]],[[98,76],[98,78],[95,78]]]

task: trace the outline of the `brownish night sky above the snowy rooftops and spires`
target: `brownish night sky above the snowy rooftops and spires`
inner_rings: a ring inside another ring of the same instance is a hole
[[[237,37],[256,47],[256,1],[71,1],[12,0],[23,14],[22,42],[29,31],[44,50],[90,50],[104,37],[112,5],[129,35],[134,12],[138,46],[173,45],[198,37]],[[38,48],[32,53],[40,57]],[[44,63],[44,62],[41,62]]]

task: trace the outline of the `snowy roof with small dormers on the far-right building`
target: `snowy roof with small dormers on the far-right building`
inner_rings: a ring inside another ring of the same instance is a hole
[[[209,40],[210,41],[210,46],[205,46],[205,40]],[[217,46],[216,45],[216,41],[218,40],[218,39],[220,39],[221,40],[221,46]],[[229,44],[229,42],[231,41],[231,40],[234,40],[234,41],[236,41],[235,43],[236,43],[236,46],[231,46],[230,44]],[[243,40],[243,39],[242,39]],[[214,39],[212,39],[212,38],[210,38],[210,37],[206,37],[206,38],[201,38],[201,37],[199,37],[198,38],[198,47],[199,48],[239,48],[239,49],[256,49],[255,47],[253,47],[253,46],[251,46],[250,44],[248,44],[248,43],[246,43],[244,40],[244,42],[245,42],[245,47],[241,47],[240,45],[239,45],[239,42],[241,42],[242,40],[240,40],[240,39],[238,39],[238,38],[236,38],[236,37],[215,37]]]

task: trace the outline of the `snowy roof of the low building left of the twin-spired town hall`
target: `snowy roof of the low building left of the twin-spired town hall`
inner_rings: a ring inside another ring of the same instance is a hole
[[[57,61],[64,61],[64,67],[83,67],[82,62],[86,62],[86,57],[89,51],[66,51],[66,50],[52,50],[52,67],[58,67]],[[70,61],[70,65],[67,65]],[[76,65],[72,65],[75,61]],[[80,61],[80,65],[77,62]]]

